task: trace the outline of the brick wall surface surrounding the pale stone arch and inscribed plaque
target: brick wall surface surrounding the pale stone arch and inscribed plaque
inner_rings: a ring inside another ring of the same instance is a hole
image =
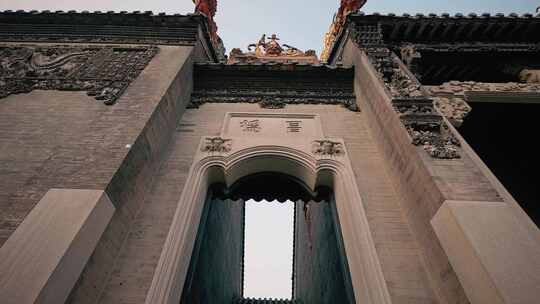
[[[325,105],[289,105],[285,109],[268,110],[256,104],[209,103],[186,110],[178,121],[177,132],[99,303],[144,303],[199,141],[202,136],[219,134],[226,112],[320,114],[325,135],[345,139],[392,300],[394,303],[435,302],[419,248],[402,214],[399,197],[387,175],[388,167],[371,136],[364,113]]]

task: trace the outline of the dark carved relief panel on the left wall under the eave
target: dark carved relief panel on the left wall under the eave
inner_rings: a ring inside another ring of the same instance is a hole
[[[157,47],[0,47],[0,98],[33,90],[87,91],[114,104]]]

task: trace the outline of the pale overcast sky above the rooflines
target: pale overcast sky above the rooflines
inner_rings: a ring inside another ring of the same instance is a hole
[[[218,0],[219,34],[230,51],[245,49],[261,34],[276,33],[281,42],[320,54],[324,33],[339,0]],[[367,13],[533,13],[540,0],[368,0]],[[0,9],[101,10],[190,13],[192,0],[0,0]]]

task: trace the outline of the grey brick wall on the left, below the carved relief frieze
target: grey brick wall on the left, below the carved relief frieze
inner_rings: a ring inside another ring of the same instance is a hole
[[[0,101],[0,241],[50,188],[106,189],[116,207],[71,301],[95,302],[191,94],[192,47],[159,54],[114,106],[82,92]]]

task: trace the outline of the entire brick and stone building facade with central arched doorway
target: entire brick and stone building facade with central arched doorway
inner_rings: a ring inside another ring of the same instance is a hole
[[[272,303],[243,298],[244,201],[277,199],[274,303],[537,303],[539,16],[362,4],[321,59],[226,57],[216,1],[1,12],[0,302]]]

